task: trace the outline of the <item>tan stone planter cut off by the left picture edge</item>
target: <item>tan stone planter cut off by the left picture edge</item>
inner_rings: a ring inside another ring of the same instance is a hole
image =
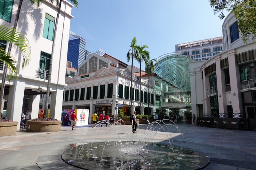
[[[0,122],[0,137],[16,135],[19,122]]]

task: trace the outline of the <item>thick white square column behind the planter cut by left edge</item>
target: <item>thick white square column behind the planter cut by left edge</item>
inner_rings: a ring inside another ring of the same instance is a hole
[[[19,122],[17,130],[20,130],[20,118],[25,90],[25,80],[15,79],[14,85],[10,85],[6,116],[13,121]]]

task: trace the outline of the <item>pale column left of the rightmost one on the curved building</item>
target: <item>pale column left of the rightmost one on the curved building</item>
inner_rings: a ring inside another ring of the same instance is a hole
[[[216,65],[219,113],[228,113],[227,99],[225,93],[225,72],[220,68],[221,55],[214,58]],[[219,97],[221,95],[221,97]],[[217,115],[218,116],[218,115]]]

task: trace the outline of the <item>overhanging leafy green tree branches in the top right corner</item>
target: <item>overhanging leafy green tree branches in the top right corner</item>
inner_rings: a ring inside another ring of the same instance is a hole
[[[256,38],[256,1],[255,0],[209,0],[214,14],[219,13],[220,19],[224,19],[223,10],[235,15],[238,22],[238,29],[241,32],[241,39],[244,42]]]

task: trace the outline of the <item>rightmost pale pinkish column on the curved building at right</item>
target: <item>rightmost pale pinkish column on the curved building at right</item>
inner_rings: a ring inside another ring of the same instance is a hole
[[[229,73],[230,75],[234,75],[236,73],[236,76],[230,77],[230,88],[231,88],[231,94],[236,93],[236,95],[232,95],[232,107],[233,107],[233,113],[242,113],[243,107],[242,107],[242,95],[240,92],[240,73],[239,73],[239,66],[236,65],[235,60],[235,54],[236,51],[230,50],[228,51],[228,65],[229,65]]]

